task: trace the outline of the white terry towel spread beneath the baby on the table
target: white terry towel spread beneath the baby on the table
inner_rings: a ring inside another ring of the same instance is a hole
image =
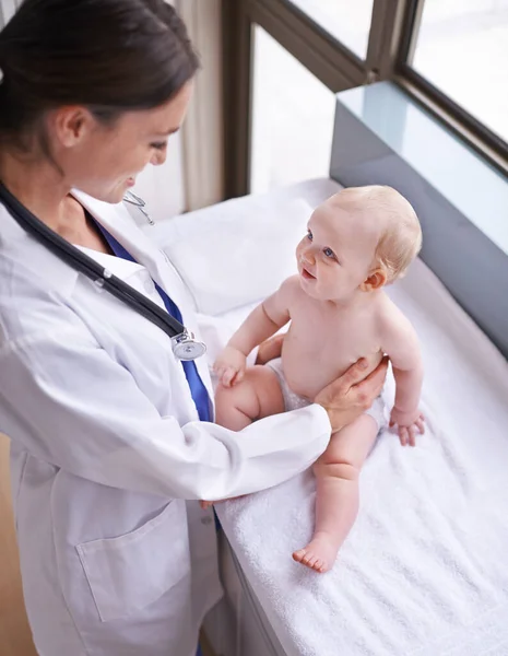
[[[421,261],[391,295],[423,342],[427,434],[379,437],[333,570],[292,560],[310,472],[216,509],[288,656],[506,656],[508,366]]]

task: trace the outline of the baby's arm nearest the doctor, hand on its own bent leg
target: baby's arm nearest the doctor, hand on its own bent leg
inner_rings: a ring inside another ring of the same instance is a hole
[[[214,368],[228,387],[244,377],[247,355],[290,320],[291,297],[296,291],[296,277],[285,280],[279,290],[260,303],[241,324],[217,358]]]

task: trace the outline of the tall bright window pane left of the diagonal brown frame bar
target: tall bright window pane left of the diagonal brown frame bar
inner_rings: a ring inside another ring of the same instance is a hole
[[[250,190],[327,177],[334,94],[259,25],[253,63]]]

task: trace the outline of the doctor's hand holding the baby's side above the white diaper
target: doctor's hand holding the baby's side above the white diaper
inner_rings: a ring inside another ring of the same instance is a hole
[[[365,377],[367,367],[367,361],[362,358],[316,397],[315,402],[328,412],[332,433],[336,433],[368,410],[381,394],[387,376],[388,358],[383,358],[374,372]]]

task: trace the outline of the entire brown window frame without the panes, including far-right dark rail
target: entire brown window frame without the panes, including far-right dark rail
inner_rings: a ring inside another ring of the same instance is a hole
[[[504,173],[508,147],[414,71],[424,0],[374,0],[362,60],[291,0],[223,0],[225,197],[249,192],[253,80],[252,26],[259,25],[332,92],[393,80]]]

